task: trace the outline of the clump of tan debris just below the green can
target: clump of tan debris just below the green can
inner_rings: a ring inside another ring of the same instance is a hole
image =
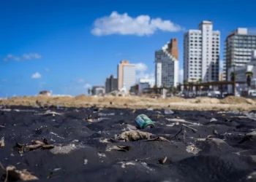
[[[147,140],[151,137],[150,132],[141,132],[139,130],[125,131],[115,136],[119,141],[139,141]]]

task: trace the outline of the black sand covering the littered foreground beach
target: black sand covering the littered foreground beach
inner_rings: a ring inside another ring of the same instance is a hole
[[[5,141],[0,162],[4,167],[27,169],[39,181],[256,181],[256,136],[246,136],[256,129],[256,121],[239,112],[167,115],[164,109],[51,108],[62,114],[53,116],[46,112],[49,109],[10,108],[0,111],[0,139]],[[87,121],[90,114],[92,122]],[[115,135],[134,129],[139,114],[156,122],[154,128],[141,131],[170,142],[115,140]],[[181,124],[197,130],[184,127],[185,143],[184,130],[173,139]],[[41,138],[55,148],[19,154],[14,147],[17,142],[30,144]],[[114,146],[130,149],[118,151]],[[166,162],[159,164],[164,157]]]

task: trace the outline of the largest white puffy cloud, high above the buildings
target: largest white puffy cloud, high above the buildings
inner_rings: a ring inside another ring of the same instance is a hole
[[[94,21],[94,28],[91,33],[95,36],[107,36],[110,34],[149,36],[156,31],[177,32],[182,31],[180,25],[170,20],[161,18],[152,19],[148,15],[129,17],[127,13],[118,14],[112,12],[110,16],[99,17]]]

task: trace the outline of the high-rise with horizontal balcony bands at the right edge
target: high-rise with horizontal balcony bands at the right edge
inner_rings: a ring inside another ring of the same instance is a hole
[[[237,28],[228,34],[225,40],[226,74],[231,67],[250,62],[253,50],[256,50],[256,35],[249,33],[247,28]]]

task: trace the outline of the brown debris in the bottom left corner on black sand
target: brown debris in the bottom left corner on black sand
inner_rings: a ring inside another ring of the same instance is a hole
[[[0,162],[0,166],[5,172],[5,174],[3,175],[3,177],[5,177],[4,182],[7,182],[7,181],[33,181],[33,180],[38,180],[37,176],[32,175],[26,169],[17,170],[16,167],[13,166],[13,165],[9,165],[5,169],[4,166],[1,165],[1,162]]]

